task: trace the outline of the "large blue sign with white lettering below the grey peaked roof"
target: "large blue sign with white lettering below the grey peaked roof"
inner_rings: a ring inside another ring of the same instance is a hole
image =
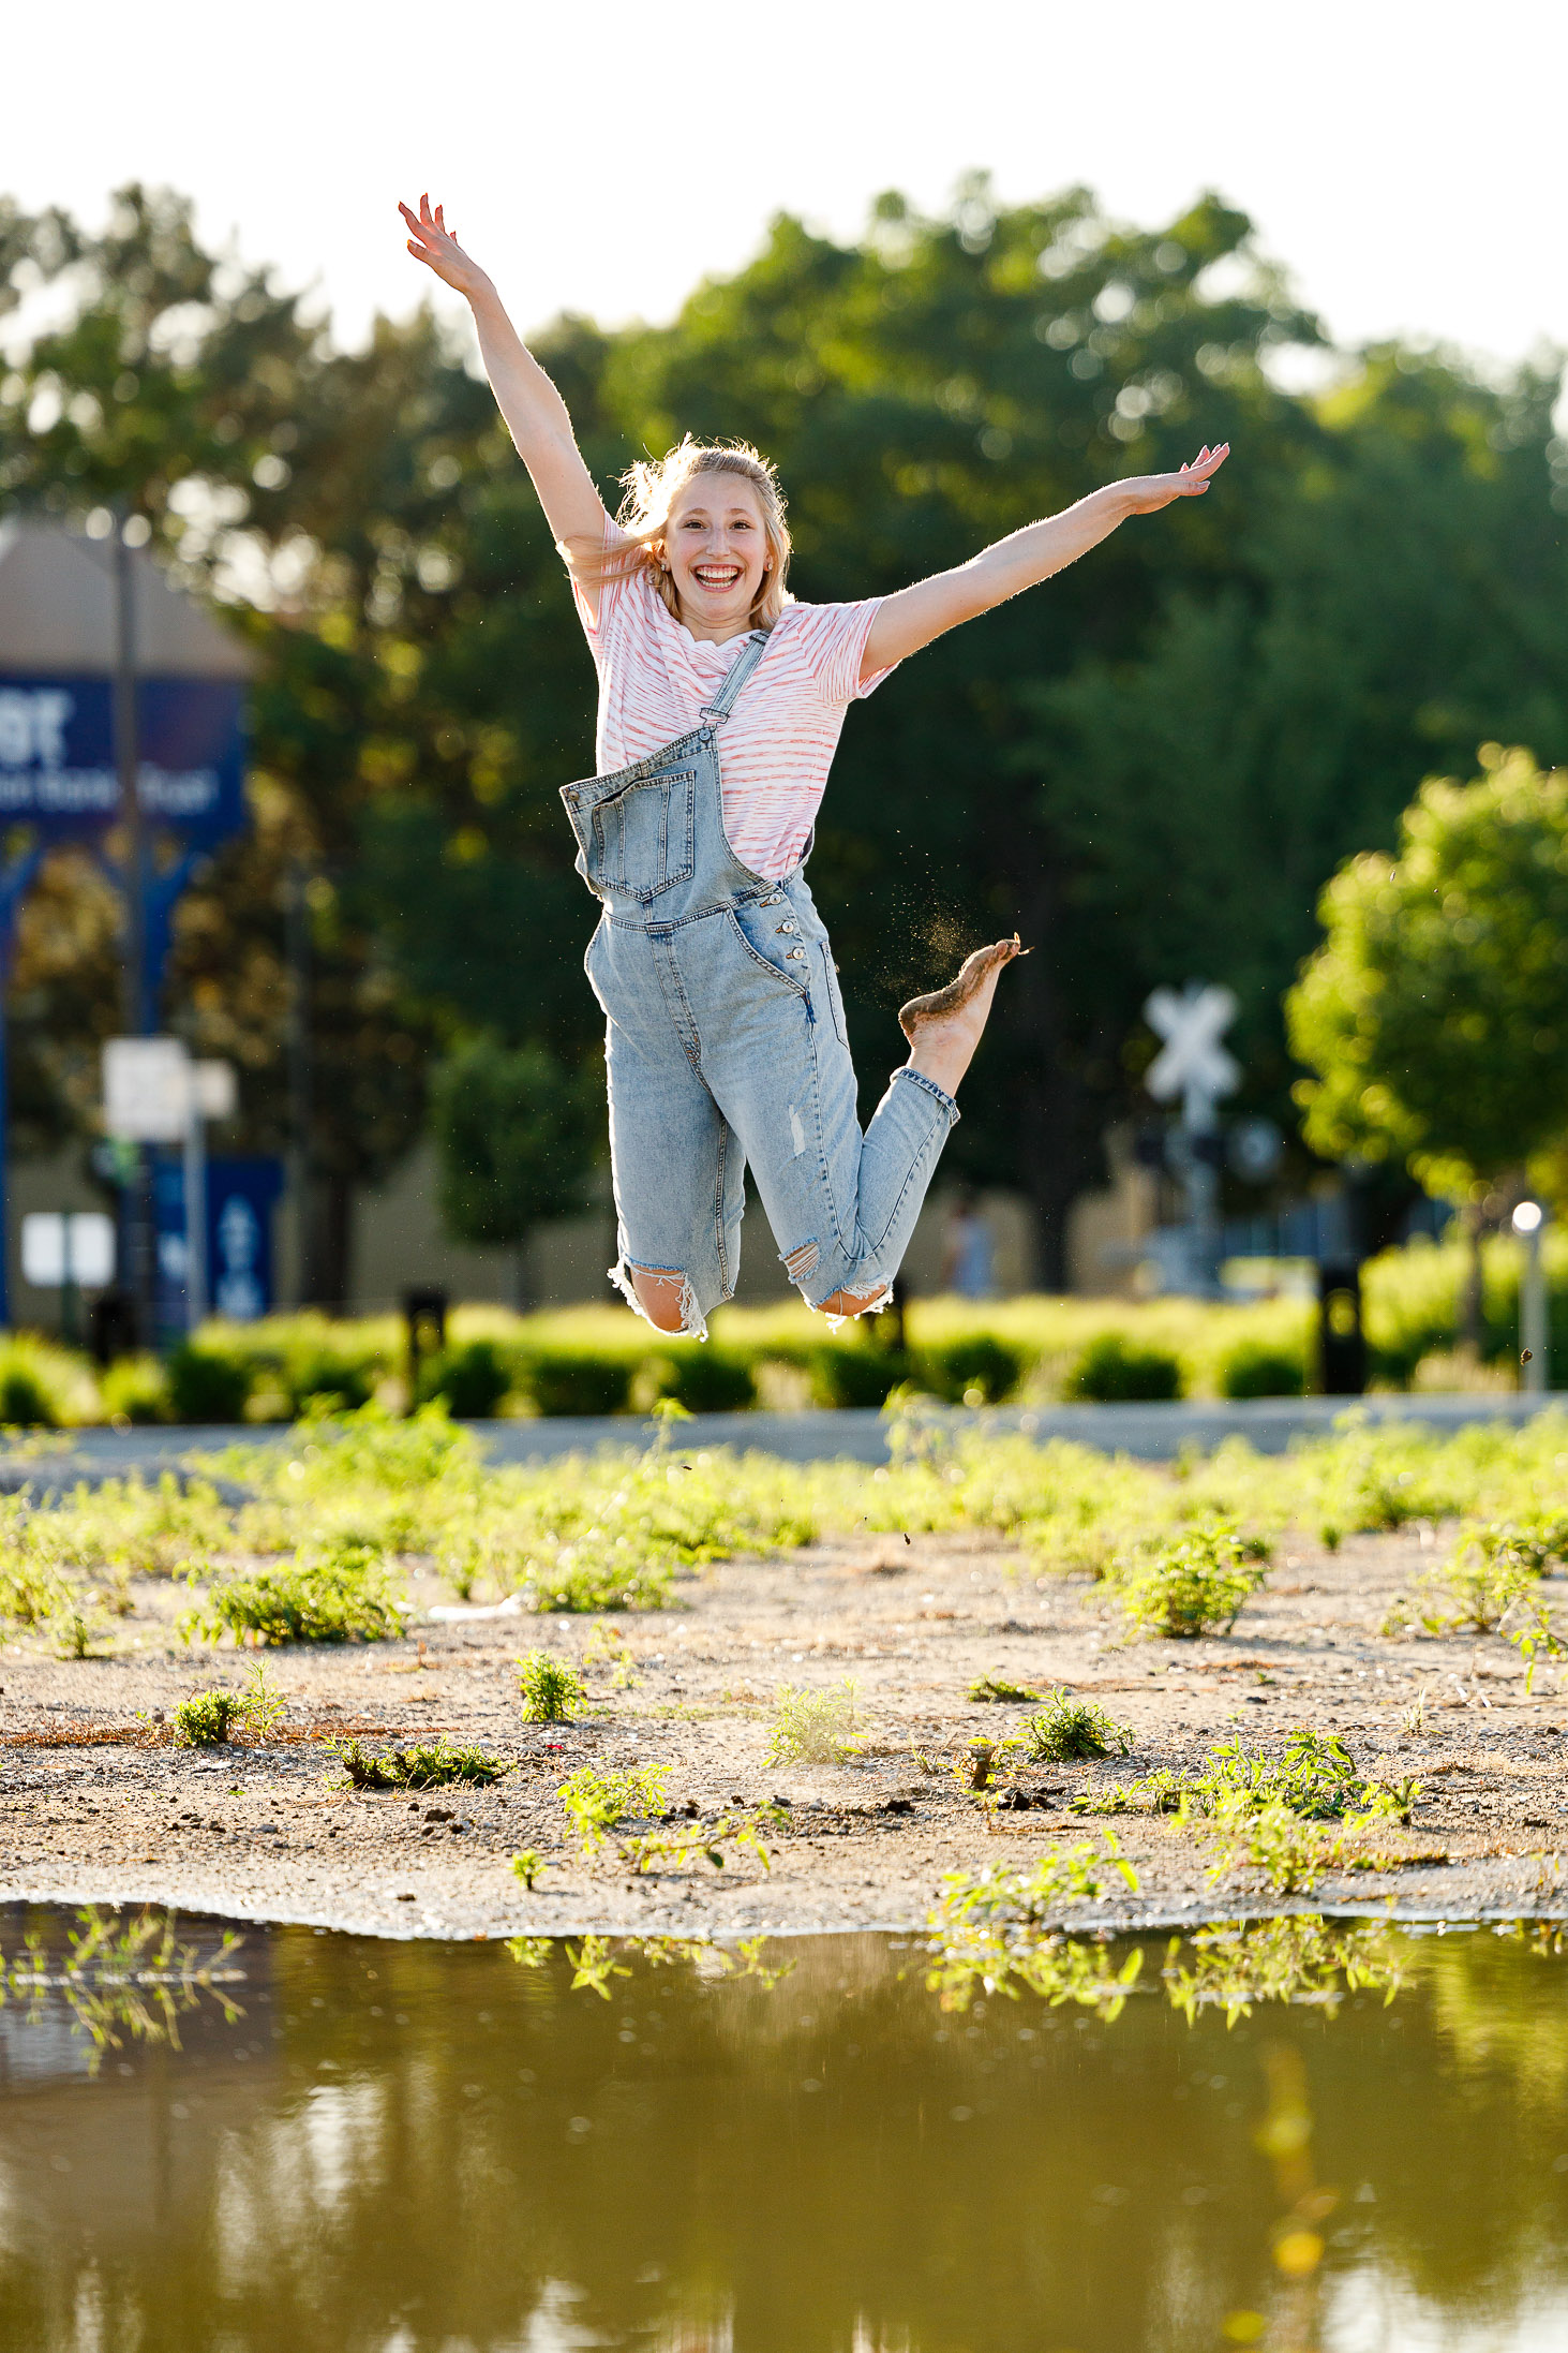
[[[141,807],[188,842],[244,826],[244,687],[143,678],[136,689]],[[103,833],[120,814],[108,678],[0,675],[0,824]]]

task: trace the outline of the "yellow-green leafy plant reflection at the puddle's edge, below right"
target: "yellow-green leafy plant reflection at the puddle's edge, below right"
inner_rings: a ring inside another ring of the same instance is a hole
[[[1190,1958],[1178,1962],[1178,1953]],[[1192,1939],[1173,1937],[1159,1972],[1187,2024],[1199,2009],[1222,2009],[1225,2024],[1253,2014],[1253,2002],[1312,2002],[1338,2009],[1347,1993],[1373,1986],[1387,2002],[1406,1981],[1392,1929],[1352,1927],[1321,1913],[1276,1920],[1215,1920]]]

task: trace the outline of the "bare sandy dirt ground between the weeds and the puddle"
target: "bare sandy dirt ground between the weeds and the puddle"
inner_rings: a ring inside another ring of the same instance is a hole
[[[1331,1555],[1286,1539],[1232,1635],[1199,1642],[1124,1642],[1093,1588],[1037,1581],[992,1541],[816,1544],[703,1572],[675,1609],[604,1621],[625,1652],[618,1668],[588,1666],[590,1715],[571,1727],[522,1722],[515,1659],[543,1647],[581,1664],[595,1621],[480,1617],[416,1624],[404,1642],[268,1652],[289,1704],[282,1737],[214,1751],[172,1746],[167,1715],[197,1687],[240,1687],[254,1654],[186,1649],[183,1586],[136,1584],[106,1657],[56,1659],[40,1640],[0,1652],[0,1901],[153,1901],[397,1937],[917,1927],[947,1871],[1018,1868],[1098,1838],[1070,1809],[1086,1786],[1197,1765],[1232,1734],[1279,1753],[1312,1725],[1340,1732],[1366,1772],[1422,1781],[1410,1828],[1380,1840],[1408,1861],[1328,1878],[1316,1906],[1563,1913],[1568,1697],[1554,1673],[1526,1699],[1519,1654],[1497,1638],[1380,1633],[1394,1593],[1446,1544],[1443,1529],[1352,1537]],[[1032,1769],[1027,1805],[987,1826],[943,1769],[1020,1713],[969,1701],[985,1673],[1093,1694],[1133,1729],[1133,1753]],[[867,1753],[769,1765],[778,1685],[842,1678],[860,1685]],[[517,1769],[494,1788],[360,1795],[324,1748],[350,1732],[369,1748],[442,1732]],[[557,1798],[585,1762],[668,1762],[670,1802],[696,1807],[684,1819],[780,1800],[771,1871],[738,1857],[628,1875],[614,1845],[585,1864]],[[1171,1821],[1114,1828],[1140,1892],[1065,1918],[1281,1908],[1246,1875],[1211,1885],[1201,1845]],[[510,1871],[520,1847],[545,1857],[531,1894]]]

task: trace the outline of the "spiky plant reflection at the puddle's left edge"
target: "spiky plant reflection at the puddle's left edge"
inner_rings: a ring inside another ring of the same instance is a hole
[[[103,2052],[127,2040],[179,2049],[179,2019],[195,2009],[202,1993],[212,1993],[233,2024],[242,2012],[223,1984],[242,1974],[226,1967],[242,1939],[230,1929],[212,1960],[197,1960],[197,1948],[179,1941],[174,1920],[174,1913],[158,1911],[122,1920],[94,1904],[66,1932],[63,1955],[49,1953],[42,1934],[31,1929],[19,1951],[0,1951],[0,2002],[26,2002],[26,2024],[35,2026],[45,1995],[59,1995],[73,2026],[92,2042],[94,2075]]]

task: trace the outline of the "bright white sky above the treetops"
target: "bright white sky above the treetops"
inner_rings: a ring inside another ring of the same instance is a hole
[[[172,184],[357,339],[418,299],[425,186],[524,327],[668,315],[780,207],[853,233],[973,167],[1140,224],[1213,186],[1335,336],[1512,360],[1568,346],[1566,80],[1563,0],[75,0],[9,12],[0,191]]]

